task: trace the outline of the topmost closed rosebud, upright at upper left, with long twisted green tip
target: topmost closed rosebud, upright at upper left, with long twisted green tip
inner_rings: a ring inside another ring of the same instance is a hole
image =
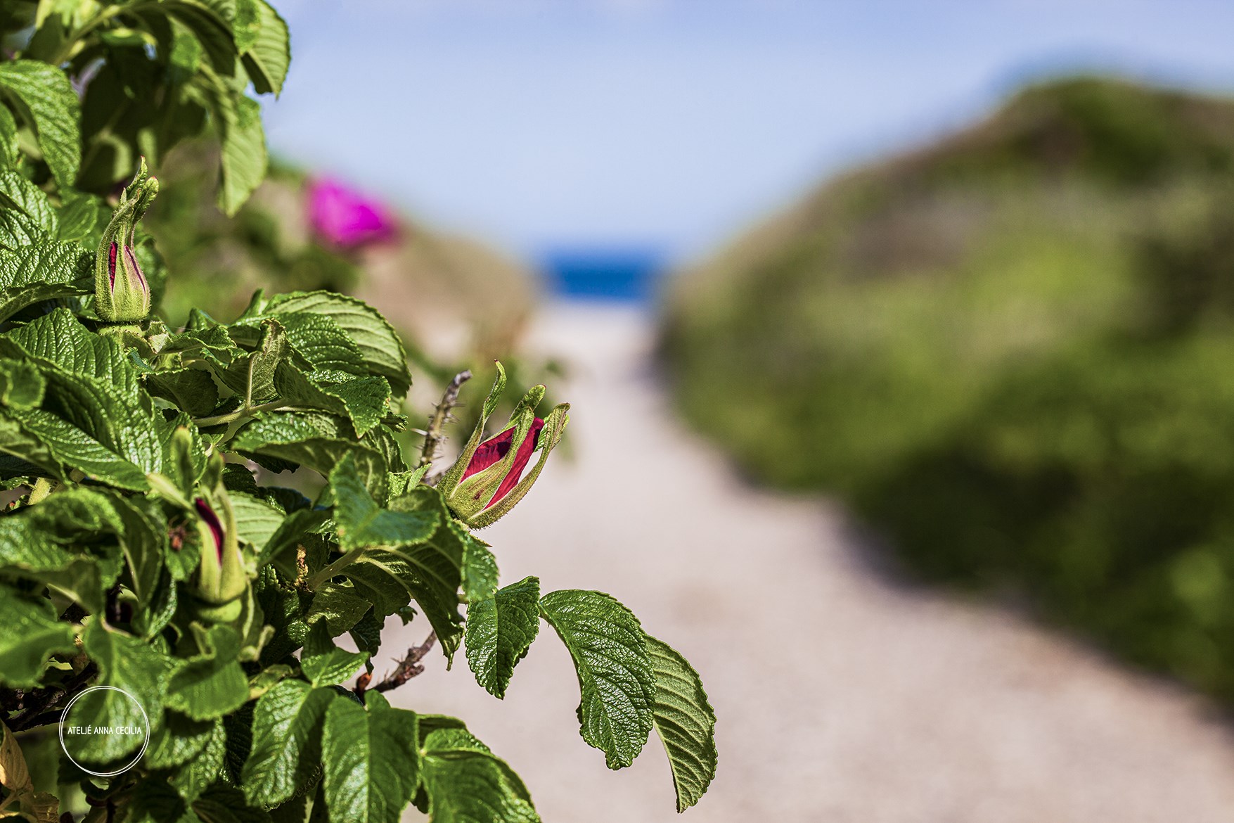
[[[99,243],[94,263],[94,299],[99,317],[110,323],[146,320],[151,312],[151,287],[133,250],[137,222],[158,194],[158,180],[146,170],[142,158],[137,176],[120,195]]]

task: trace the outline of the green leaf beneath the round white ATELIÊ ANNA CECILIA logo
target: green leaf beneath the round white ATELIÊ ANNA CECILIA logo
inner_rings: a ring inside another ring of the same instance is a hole
[[[167,682],[173,663],[141,638],[107,628],[95,618],[83,634],[85,653],[99,666],[100,686],[115,686],[132,696],[144,711],[138,711],[133,701],[117,692],[102,692],[104,700],[93,705],[93,711],[81,712],[81,724],[132,726],[151,730],[163,724],[163,706]],[[80,751],[91,761],[107,763],[133,751],[142,740],[136,735],[96,734],[83,738]]]

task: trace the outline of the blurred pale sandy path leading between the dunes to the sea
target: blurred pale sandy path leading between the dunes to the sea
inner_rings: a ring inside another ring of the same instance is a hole
[[[1234,734],[1204,702],[1003,612],[897,587],[832,508],[742,485],[666,410],[634,312],[558,306],[536,336],[575,354],[558,395],[578,460],[550,463],[485,538],[503,582],[611,592],[700,670],[719,774],[682,819],[1234,822]],[[579,738],[547,627],[505,702],[462,654],[391,696],[466,718],[548,823],[676,819],[654,737],[617,772]]]

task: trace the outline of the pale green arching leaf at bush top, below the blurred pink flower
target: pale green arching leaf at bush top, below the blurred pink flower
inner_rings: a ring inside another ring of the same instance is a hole
[[[359,348],[369,371],[389,380],[395,396],[407,394],[411,374],[402,341],[394,327],[364,301],[332,291],[294,291],[270,299],[265,311],[274,316],[304,312],[332,318]]]

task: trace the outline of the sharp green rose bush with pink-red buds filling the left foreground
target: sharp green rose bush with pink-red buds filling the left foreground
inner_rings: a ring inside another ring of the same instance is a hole
[[[654,729],[679,809],[697,802],[716,749],[694,669],[608,595],[501,586],[474,533],[528,492],[566,405],[538,417],[536,386],[490,426],[499,364],[438,465],[466,378],[405,449],[406,352],[366,304],[258,291],[228,321],[158,315],[141,154],[213,141],[218,205],[242,205],[265,172],[248,93],[276,93],[290,58],[278,14],[14,2],[0,26],[0,819],[538,821],[462,721],[386,695],[436,647],[500,698],[540,621],[574,660],[584,740],[619,769]],[[379,679],[397,619],[427,640]],[[148,734],[65,743],[69,708]]]

